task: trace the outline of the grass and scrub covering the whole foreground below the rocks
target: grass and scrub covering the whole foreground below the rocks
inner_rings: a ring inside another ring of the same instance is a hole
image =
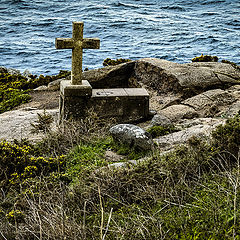
[[[240,115],[219,126],[211,142],[195,137],[165,155],[156,148],[136,166],[117,169],[106,167],[105,151],[129,149],[92,119],[48,129],[37,145],[0,143],[1,236],[240,238]],[[44,131],[39,126],[48,120],[39,116],[33,127]]]

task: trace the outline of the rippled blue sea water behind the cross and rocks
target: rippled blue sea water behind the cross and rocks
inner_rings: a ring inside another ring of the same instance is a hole
[[[71,69],[71,50],[55,38],[101,40],[85,50],[83,68],[105,58],[156,57],[185,63],[200,54],[240,64],[240,0],[0,0],[0,66],[56,74]]]

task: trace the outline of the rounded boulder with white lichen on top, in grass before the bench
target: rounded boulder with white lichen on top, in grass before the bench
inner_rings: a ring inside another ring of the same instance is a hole
[[[118,124],[109,130],[115,141],[126,143],[130,147],[149,150],[153,141],[148,132],[133,124]]]

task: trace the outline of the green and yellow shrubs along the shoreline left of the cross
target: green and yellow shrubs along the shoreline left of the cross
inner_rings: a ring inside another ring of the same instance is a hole
[[[0,72],[0,113],[28,102],[31,99],[28,93],[32,89],[68,75],[69,71],[61,70],[56,76],[30,75],[27,78],[21,74],[9,74],[7,70]]]

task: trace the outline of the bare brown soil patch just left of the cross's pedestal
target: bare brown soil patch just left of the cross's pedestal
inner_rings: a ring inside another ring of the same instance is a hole
[[[30,102],[21,104],[15,109],[54,109],[59,106],[59,91],[31,91],[29,95],[31,96]]]

